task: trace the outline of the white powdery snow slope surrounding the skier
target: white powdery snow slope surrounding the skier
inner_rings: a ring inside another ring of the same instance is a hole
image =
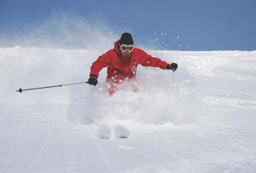
[[[0,172],[256,172],[256,52],[147,52],[178,71],[139,66],[138,92],[108,96],[106,69],[14,92],[86,81],[102,49],[0,48]]]

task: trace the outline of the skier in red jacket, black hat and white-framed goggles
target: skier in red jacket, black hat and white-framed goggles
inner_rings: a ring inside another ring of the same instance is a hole
[[[130,33],[122,33],[115,41],[114,49],[98,57],[90,67],[89,85],[97,85],[99,72],[107,67],[106,84],[110,95],[117,91],[118,85],[124,81],[135,81],[137,66],[158,67],[160,69],[178,69],[176,63],[168,64],[158,57],[152,57],[142,49],[134,47],[134,39]],[[136,90],[136,88],[134,88]]]

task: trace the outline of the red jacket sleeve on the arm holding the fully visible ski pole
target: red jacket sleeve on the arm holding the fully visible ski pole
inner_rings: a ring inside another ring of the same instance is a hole
[[[98,77],[99,71],[104,67],[110,64],[110,55],[109,53],[104,53],[102,56],[99,56],[96,61],[90,66],[90,76]]]

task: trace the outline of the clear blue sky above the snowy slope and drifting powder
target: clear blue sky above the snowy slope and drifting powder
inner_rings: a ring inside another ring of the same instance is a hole
[[[255,9],[254,0],[0,0],[0,33],[64,11],[160,49],[255,50]]]

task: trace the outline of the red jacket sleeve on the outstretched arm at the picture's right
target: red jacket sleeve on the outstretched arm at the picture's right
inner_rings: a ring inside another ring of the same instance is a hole
[[[139,64],[148,67],[159,67],[161,69],[166,69],[166,66],[168,65],[166,61],[162,61],[158,57],[152,57],[144,51],[142,51],[142,57],[140,58]]]

